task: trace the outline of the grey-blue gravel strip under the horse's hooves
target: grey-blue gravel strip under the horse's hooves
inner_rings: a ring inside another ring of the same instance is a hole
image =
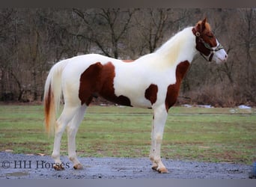
[[[168,174],[153,171],[147,158],[79,158],[84,166],[76,171],[67,157],[64,171],[52,168],[50,156],[0,152],[0,179],[248,179],[250,165],[184,162],[163,159]]]

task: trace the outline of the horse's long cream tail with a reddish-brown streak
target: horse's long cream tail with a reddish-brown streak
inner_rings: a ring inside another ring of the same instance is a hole
[[[67,60],[60,61],[51,68],[44,86],[44,123],[49,135],[52,135],[55,129],[56,114],[58,113],[62,94],[61,75],[67,62]]]

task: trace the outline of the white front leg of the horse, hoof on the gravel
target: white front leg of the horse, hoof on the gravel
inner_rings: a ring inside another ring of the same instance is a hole
[[[160,152],[162,144],[162,135],[165,129],[165,122],[168,113],[165,105],[161,105],[154,109],[153,123],[151,132],[151,148],[150,148],[150,160],[153,162],[152,169],[159,171],[159,173],[168,173],[168,170],[163,165]]]

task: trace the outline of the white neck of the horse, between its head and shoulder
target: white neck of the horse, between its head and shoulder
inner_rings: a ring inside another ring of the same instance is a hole
[[[192,27],[184,28],[183,31],[175,34],[166,43],[164,43],[156,54],[161,56],[168,64],[177,65],[181,61],[192,62],[195,50],[195,36],[192,34]]]

